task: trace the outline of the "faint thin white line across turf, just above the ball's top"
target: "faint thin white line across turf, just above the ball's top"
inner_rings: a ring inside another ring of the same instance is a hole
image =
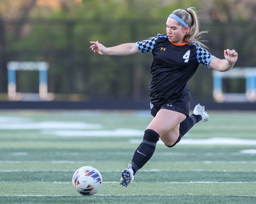
[[[54,163],[54,164],[78,164],[78,163],[90,163],[90,162],[99,162],[99,161],[70,161],[70,160],[50,160],[50,161],[11,161],[11,160],[0,160],[0,163],[7,163],[7,164],[37,164],[37,163]],[[105,161],[106,162],[106,161]],[[172,164],[256,164],[256,161],[180,161],[180,162],[170,162]],[[157,164],[157,162],[156,162]]]

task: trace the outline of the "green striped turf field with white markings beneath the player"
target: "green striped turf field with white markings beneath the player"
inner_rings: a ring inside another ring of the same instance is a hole
[[[209,113],[175,147],[159,142],[124,188],[120,173],[148,111],[1,111],[0,203],[255,204],[256,113]],[[75,192],[71,180],[81,166],[100,171],[99,193]]]

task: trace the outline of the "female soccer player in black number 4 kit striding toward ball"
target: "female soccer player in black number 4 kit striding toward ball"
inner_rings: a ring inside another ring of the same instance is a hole
[[[199,121],[207,121],[209,115],[204,106],[196,105],[189,115],[188,80],[194,75],[198,65],[228,71],[236,60],[233,49],[224,50],[224,58],[211,55],[198,41],[200,34],[196,11],[193,7],[175,10],[167,18],[166,34],[136,43],[126,43],[115,47],[104,47],[98,41],[90,47],[100,55],[132,55],[152,52],[152,80],[149,86],[150,108],[153,120],[145,130],[143,140],[135,150],[132,163],[121,173],[120,184],[128,186],[134,174],[152,157],[156,142],[160,139],[167,147],[173,147],[190,128]]]

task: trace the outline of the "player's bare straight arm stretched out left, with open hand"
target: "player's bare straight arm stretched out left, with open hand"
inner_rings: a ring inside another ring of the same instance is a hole
[[[133,55],[139,53],[135,43],[125,43],[115,47],[105,47],[99,41],[91,41],[90,43],[93,44],[90,47],[92,51],[100,55]]]

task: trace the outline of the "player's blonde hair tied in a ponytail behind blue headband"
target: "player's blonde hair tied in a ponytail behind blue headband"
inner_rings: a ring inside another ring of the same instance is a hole
[[[193,42],[199,44],[203,47],[206,47],[202,41],[199,41],[202,33],[208,33],[207,31],[199,32],[199,22],[197,20],[196,9],[195,7],[190,7],[186,10],[177,9],[172,11],[173,14],[179,16],[187,25],[188,25],[188,33],[185,35],[184,41],[192,45]],[[179,22],[180,23],[180,22]],[[180,23],[180,25],[185,26]],[[191,42],[193,41],[193,42]],[[206,47],[208,48],[208,47]]]

